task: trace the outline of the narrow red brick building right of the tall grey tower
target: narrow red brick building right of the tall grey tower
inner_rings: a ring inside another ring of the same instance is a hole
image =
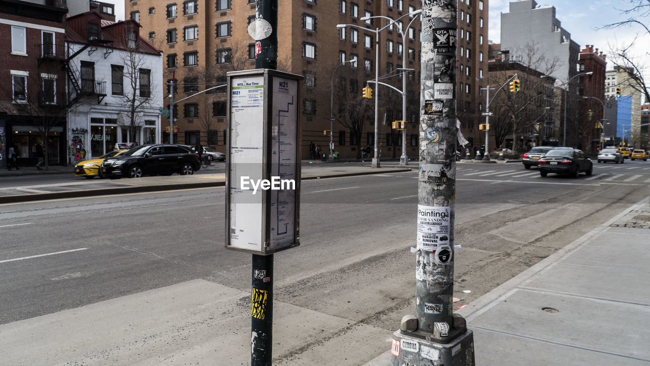
[[[601,124],[605,100],[605,55],[593,45],[587,45],[580,51],[580,72],[593,72],[591,75],[578,76],[578,94],[580,100],[580,135],[583,150],[596,151],[601,145]],[[601,122],[601,123],[599,123]]]

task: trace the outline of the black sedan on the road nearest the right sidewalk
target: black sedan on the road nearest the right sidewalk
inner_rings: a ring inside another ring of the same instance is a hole
[[[581,172],[586,175],[593,173],[593,162],[581,150],[554,148],[539,159],[537,169],[541,176],[555,173],[568,174],[573,178],[578,178]]]

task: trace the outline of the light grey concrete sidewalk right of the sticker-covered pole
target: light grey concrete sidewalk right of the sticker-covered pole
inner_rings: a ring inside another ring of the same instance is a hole
[[[650,365],[649,263],[644,199],[458,310],[476,365]]]

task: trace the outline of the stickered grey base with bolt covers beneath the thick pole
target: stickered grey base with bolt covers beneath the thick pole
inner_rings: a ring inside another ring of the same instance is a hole
[[[413,334],[413,335],[410,335]],[[390,366],[454,365],[474,366],[474,335],[466,330],[449,343],[423,339],[417,332],[393,333]]]

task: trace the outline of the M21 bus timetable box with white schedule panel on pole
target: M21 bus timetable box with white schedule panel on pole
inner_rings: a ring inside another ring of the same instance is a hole
[[[226,248],[268,255],[299,245],[301,80],[227,73]]]

